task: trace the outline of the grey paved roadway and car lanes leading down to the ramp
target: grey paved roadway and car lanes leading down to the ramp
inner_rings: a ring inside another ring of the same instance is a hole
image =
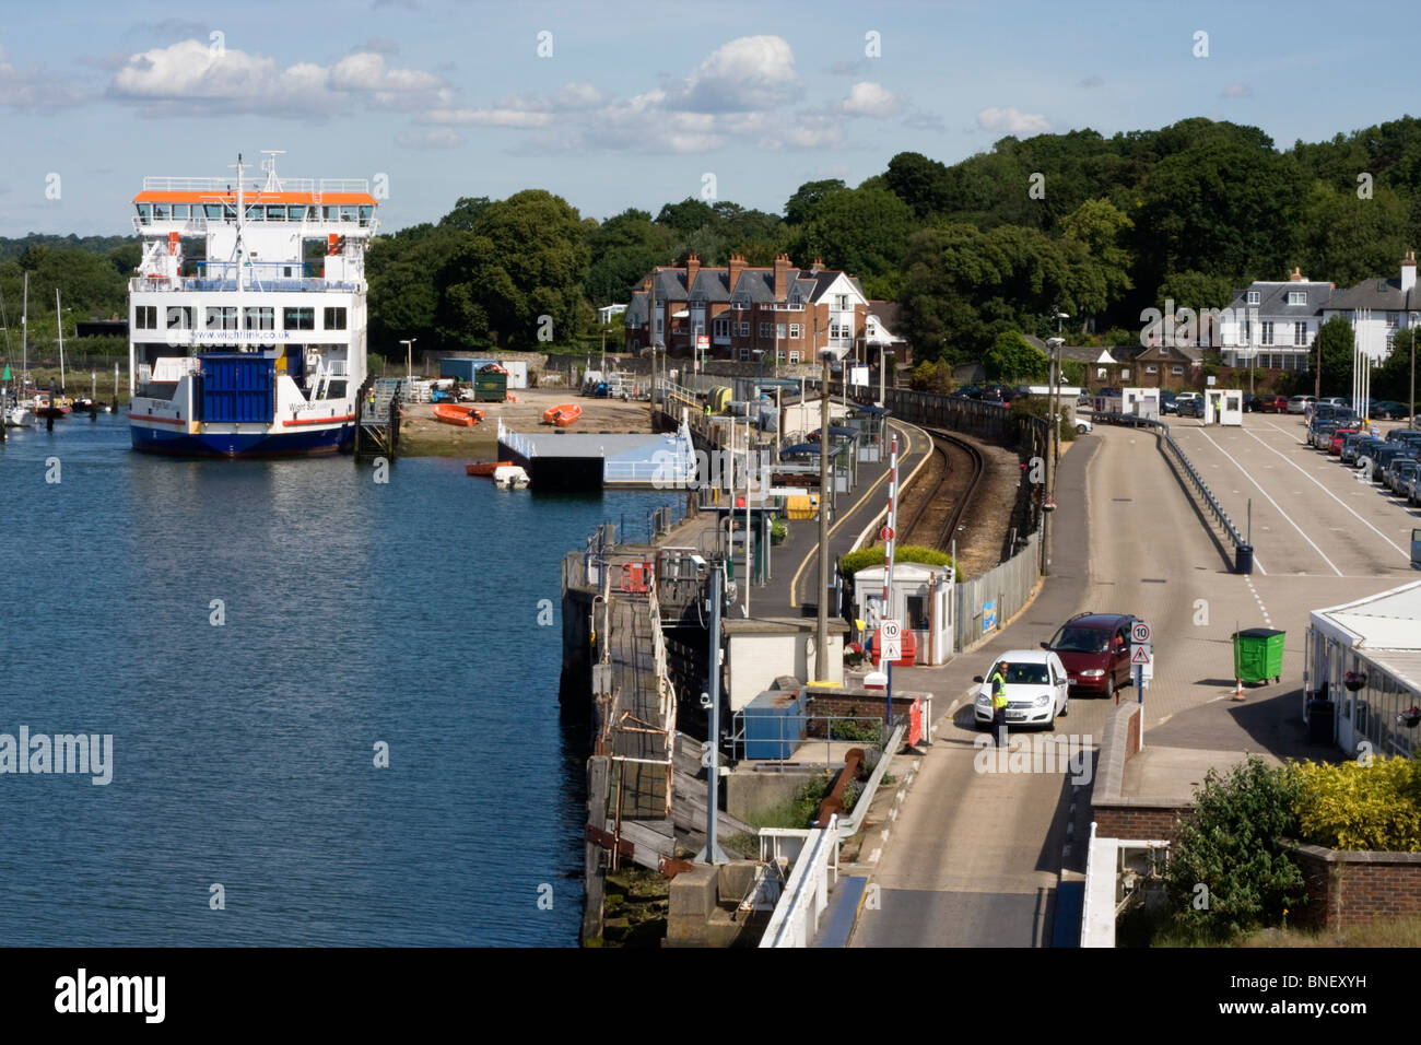
[[[973,745],[985,734],[972,727],[966,694],[996,655],[1036,648],[1074,613],[1133,613],[1152,624],[1155,640],[1155,680],[1144,698],[1154,731],[1147,742],[1152,735],[1179,746],[1270,749],[1279,724],[1241,712],[1280,695],[1275,704],[1283,714],[1300,711],[1307,611],[1414,579],[1390,543],[1410,516],[1384,506],[1397,518],[1377,523],[1376,533],[1340,522],[1337,499],[1370,520],[1383,510],[1371,503],[1380,495],[1356,496],[1356,483],[1336,466],[1324,471],[1324,461],[1302,451],[1292,432],[1250,418],[1246,429],[1223,436],[1219,429],[1178,435],[1221,498],[1238,502],[1226,505],[1235,519],[1243,519],[1246,496],[1255,498],[1253,543],[1268,573],[1231,572],[1232,547],[1201,520],[1152,434],[1097,428],[1079,441],[1061,459],[1053,562],[1036,600],[992,641],[951,664],[894,675],[904,688],[932,691],[942,718],[887,839],[877,843],[878,859],[858,869],[878,889],[867,894],[851,945],[1050,945],[1057,881],[1063,872],[1084,870],[1090,786],[1074,785],[1066,772],[975,769]],[[1229,458],[1204,436],[1226,445]],[[1319,482],[1304,481],[1292,463]],[[1277,519],[1260,512],[1269,506],[1265,492],[1279,505]],[[1329,569],[1327,559],[1340,567]],[[1253,626],[1287,631],[1283,682],[1233,704],[1226,700],[1233,688],[1231,636]],[[1123,701],[1137,698],[1133,688],[1121,691]],[[1104,719],[1103,700],[1077,697],[1057,735],[1097,746]],[[875,846],[864,849],[871,859]]]

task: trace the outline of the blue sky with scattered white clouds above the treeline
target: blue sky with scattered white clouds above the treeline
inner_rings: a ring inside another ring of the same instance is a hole
[[[1201,115],[1287,148],[1421,109],[1418,41],[1390,21],[1241,0],[13,4],[0,236],[129,233],[144,176],[261,149],[283,176],[378,181],[388,232],[526,188],[600,220],[688,196],[779,213],[904,151]]]

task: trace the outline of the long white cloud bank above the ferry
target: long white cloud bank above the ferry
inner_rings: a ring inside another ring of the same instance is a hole
[[[389,68],[379,54],[352,54],[331,67],[274,58],[198,40],[132,55],[108,85],[108,95],[139,102],[145,112],[261,112],[320,117],[355,102],[408,109],[448,97],[443,81],[419,70]]]

